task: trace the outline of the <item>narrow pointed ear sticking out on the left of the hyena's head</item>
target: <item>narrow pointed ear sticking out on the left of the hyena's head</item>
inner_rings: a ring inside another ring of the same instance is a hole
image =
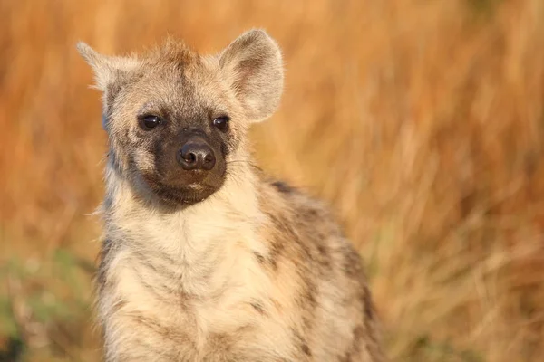
[[[94,71],[96,88],[103,92],[111,88],[119,88],[119,82],[126,78],[127,74],[138,67],[136,58],[113,57],[96,52],[88,44],[77,43],[77,50],[83,59],[91,65]]]

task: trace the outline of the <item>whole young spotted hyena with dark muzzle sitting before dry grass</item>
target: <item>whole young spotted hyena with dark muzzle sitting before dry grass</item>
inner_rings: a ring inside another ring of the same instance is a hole
[[[362,262],[334,216],[251,162],[283,89],[262,30],[202,55],[79,43],[109,139],[97,310],[106,361],[382,361]]]

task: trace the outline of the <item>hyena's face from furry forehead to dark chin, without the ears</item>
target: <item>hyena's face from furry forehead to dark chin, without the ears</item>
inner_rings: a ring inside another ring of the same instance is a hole
[[[225,181],[236,127],[220,87],[213,77],[198,82],[170,70],[142,77],[120,94],[126,102],[117,116],[122,120],[113,119],[113,138],[131,179],[166,205],[198,203]]]

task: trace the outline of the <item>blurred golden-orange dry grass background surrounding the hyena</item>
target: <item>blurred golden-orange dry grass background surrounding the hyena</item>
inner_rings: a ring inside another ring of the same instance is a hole
[[[95,361],[106,138],[83,40],[251,27],[287,67],[261,167],[334,208],[393,361],[544,360],[541,0],[0,0],[0,361]]]

